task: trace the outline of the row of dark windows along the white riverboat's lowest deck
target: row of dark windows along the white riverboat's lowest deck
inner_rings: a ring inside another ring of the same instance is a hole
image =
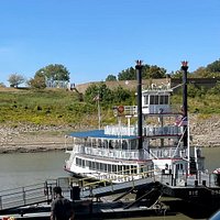
[[[116,174],[136,174],[138,166],[135,165],[116,165],[116,164],[105,164],[99,162],[92,162],[87,160],[81,160],[76,157],[76,165],[80,167],[89,167],[89,169],[98,170],[98,172],[107,172],[107,173],[116,173]],[[150,170],[151,167],[147,168],[142,166],[140,168],[140,173]]]

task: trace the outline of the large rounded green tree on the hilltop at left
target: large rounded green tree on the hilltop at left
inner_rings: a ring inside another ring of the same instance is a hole
[[[38,69],[34,77],[45,77],[48,80],[64,80],[69,81],[69,72],[61,64],[51,64],[46,67]]]

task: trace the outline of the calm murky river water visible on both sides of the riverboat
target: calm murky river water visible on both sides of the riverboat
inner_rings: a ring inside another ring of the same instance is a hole
[[[202,148],[206,168],[220,167],[220,147]],[[64,172],[65,152],[0,154],[0,190],[68,176]]]

